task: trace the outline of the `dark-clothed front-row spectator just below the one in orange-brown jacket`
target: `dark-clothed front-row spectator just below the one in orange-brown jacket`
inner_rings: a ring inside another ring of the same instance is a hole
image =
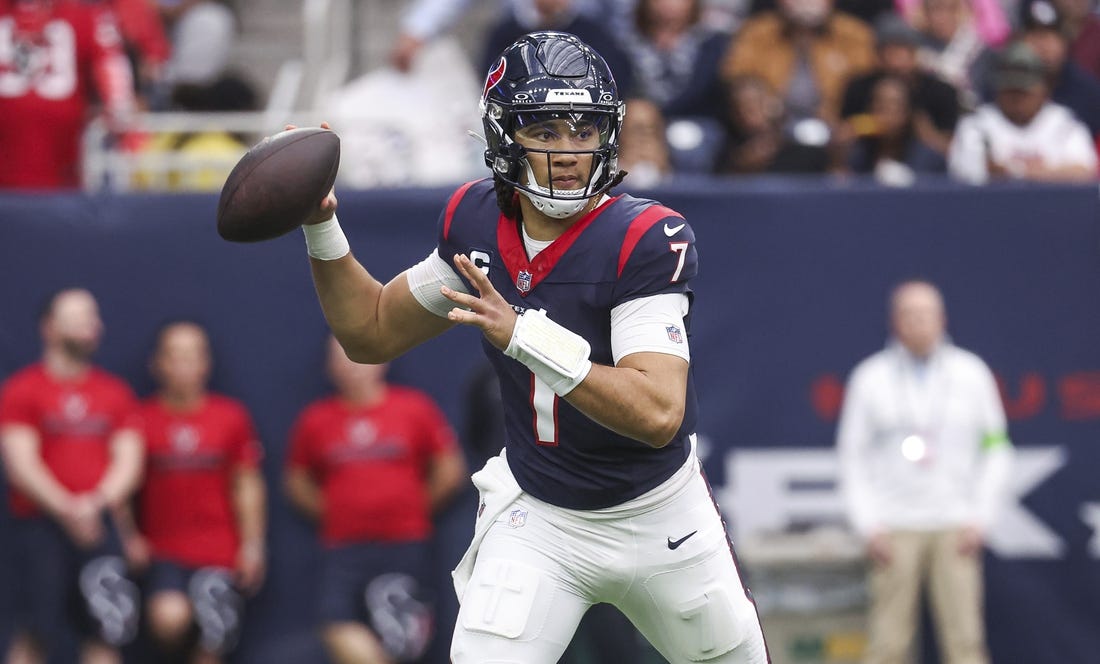
[[[735,78],[728,87],[729,133],[715,171],[722,175],[825,173],[829,153],[823,144],[794,141],[782,100],[756,76]]]

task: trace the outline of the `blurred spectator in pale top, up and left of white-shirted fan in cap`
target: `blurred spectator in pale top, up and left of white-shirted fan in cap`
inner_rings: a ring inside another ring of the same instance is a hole
[[[958,90],[959,102],[974,110],[993,54],[978,32],[969,0],[923,0],[910,21],[923,35],[921,66]]]

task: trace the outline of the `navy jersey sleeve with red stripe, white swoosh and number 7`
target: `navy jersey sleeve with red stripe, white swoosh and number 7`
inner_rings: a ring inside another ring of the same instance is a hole
[[[615,303],[663,292],[691,292],[698,272],[695,234],[684,218],[663,206],[631,222],[618,258]]]

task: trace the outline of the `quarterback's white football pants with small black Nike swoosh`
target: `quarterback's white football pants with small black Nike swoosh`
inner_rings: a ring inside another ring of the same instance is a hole
[[[769,661],[694,453],[624,505],[569,510],[519,494],[484,525],[459,598],[454,664],[554,664],[597,602],[618,607],[673,664]]]

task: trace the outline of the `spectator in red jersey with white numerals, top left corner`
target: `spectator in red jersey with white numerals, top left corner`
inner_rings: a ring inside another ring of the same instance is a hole
[[[79,186],[94,99],[117,129],[134,110],[114,16],[73,0],[0,0],[0,189]]]

